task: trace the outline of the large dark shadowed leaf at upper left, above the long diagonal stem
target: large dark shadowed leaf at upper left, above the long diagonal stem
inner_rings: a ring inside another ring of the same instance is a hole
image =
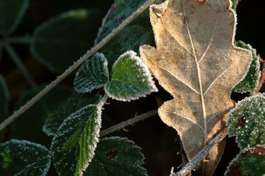
[[[93,46],[102,17],[96,9],[62,13],[36,28],[31,51],[51,71],[63,72]]]

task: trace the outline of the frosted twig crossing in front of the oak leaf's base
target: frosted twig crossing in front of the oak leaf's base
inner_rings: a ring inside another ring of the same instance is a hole
[[[198,162],[202,161],[202,159],[212,150],[213,147],[219,144],[227,136],[227,134],[228,134],[228,129],[225,128],[211,142],[209,142],[209,144],[203,150],[199,151],[184,167],[182,167],[180,171],[174,173],[172,169],[170,176],[187,175]]]

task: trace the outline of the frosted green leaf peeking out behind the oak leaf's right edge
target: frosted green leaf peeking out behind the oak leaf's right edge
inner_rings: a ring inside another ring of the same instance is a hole
[[[248,49],[252,53],[252,62],[250,64],[249,70],[245,78],[235,85],[235,87],[233,88],[233,92],[237,93],[253,92],[255,91],[258,85],[260,77],[259,57],[256,54],[256,50],[253,49],[249,44],[245,44],[242,41],[237,41],[235,45],[241,48]]]

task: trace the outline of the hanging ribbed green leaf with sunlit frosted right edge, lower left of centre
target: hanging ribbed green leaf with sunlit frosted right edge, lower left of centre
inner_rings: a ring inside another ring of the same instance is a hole
[[[92,160],[106,97],[98,105],[87,105],[74,112],[58,128],[52,139],[51,151],[59,175],[82,175]]]

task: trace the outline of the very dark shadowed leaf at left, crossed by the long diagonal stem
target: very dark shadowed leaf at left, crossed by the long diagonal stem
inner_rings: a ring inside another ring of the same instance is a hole
[[[22,94],[16,103],[15,110],[25,105],[32,97],[39,93],[45,86],[38,87],[34,90],[26,91]],[[46,94],[40,101],[33,105],[29,110],[23,113],[20,118],[11,124],[12,137],[17,139],[26,139],[40,143],[45,146],[50,145],[48,138],[41,130],[42,126],[52,112],[61,107],[73,93],[72,89],[67,86],[58,85]]]

